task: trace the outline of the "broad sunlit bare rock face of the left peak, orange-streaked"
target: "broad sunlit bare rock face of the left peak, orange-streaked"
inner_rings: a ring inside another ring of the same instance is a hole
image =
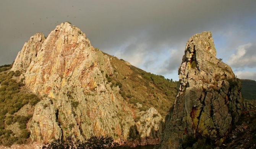
[[[67,22],[45,40],[42,34],[31,40],[12,69],[24,70],[26,86],[44,99],[36,105],[28,125],[32,141],[48,142],[68,135],[79,140],[100,135],[113,136],[115,141],[129,138],[130,127],[139,124],[118,93],[119,87],[111,87],[105,77],[113,75],[109,57]],[[161,121],[154,121],[154,131],[162,129]]]

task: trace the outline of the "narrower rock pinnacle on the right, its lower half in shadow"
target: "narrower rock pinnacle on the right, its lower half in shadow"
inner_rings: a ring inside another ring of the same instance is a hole
[[[216,58],[211,32],[192,36],[178,69],[180,85],[159,148],[182,148],[188,139],[220,145],[240,116],[241,82]]]

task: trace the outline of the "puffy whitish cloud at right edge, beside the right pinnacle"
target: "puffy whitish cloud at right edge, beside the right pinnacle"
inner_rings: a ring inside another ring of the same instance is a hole
[[[256,67],[256,44],[244,44],[228,58],[228,64],[234,68]]]

